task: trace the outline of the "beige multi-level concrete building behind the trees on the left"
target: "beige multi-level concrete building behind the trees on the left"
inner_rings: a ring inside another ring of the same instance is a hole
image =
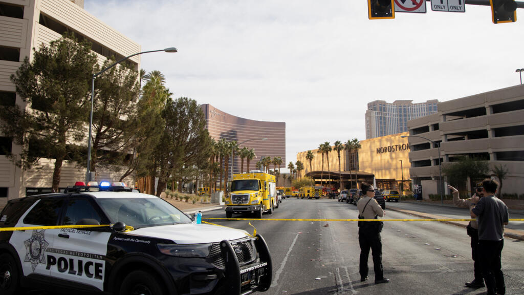
[[[141,51],[139,44],[86,12],[83,0],[0,0],[0,103],[26,107],[9,77],[24,58],[28,57],[29,62],[33,60],[32,48],[39,50],[42,44],[48,46],[65,32],[73,32],[78,39],[90,41],[100,64],[110,56],[118,60]],[[135,70],[140,68],[139,55],[128,61]],[[87,137],[86,134],[81,144],[87,145]],[[41,159],[39,169],[23,170],[7,159],[3,151],[17,154],[21,148],[0,130],[0,205],[7,198],[51,191],[53,159]],[[119,178],[110,171],[100,171],[99,176],[107,180]],[[84,179],[85,168],[65,161],[60,187]],[[133,177],[126,177],[124,181],[134,184]]]

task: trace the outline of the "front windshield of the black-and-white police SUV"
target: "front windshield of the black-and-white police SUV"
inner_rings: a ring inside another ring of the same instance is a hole
[[[112,223],[124,222],[134,228],[191,223],[179,209],[160,198],[99,198],[97,202]]]

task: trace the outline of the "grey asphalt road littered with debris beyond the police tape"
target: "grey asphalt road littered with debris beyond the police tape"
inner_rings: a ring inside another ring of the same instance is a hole
[[[392,204],[391,206],[409,204]],[[390,203],[387,204],[390,206]],[[418,209],[410,207],[407,209]],[[447,216],[447,208],[426,208]],[[421,209],[422,210],[422,209]],[[440,212],[439,212],[440,211]],[[356,206],[336,199],[285,199],[275,213],[262,220],[210,220],[225,218],[223,210],[204,212],[204,221],[257,233],[267,241],[274,267],[271,288],[264,294],[485,294],[464,282],[473,279],[470,238],[463,227],[440,222],[386,222],[382,233],[384,275],[391,279],[375,285],[369,258],[369,280],[360,282],[360,249],[356,222],[272,221],[269,218],[357,217]],[[464,218],[463,213],[460,217]],[[233,217],[248,217],[234,215]],[[414,218],[386,210],[385,218]],[[416,218],[416,217],[415,217]],[[513,218],[513,217],[512,217]],[[517,218],[517,217],[515,217]],[[506,294],[524,293],[524,241],[505,239],[503,271]],[[370,255],[371,256],[371,255]],[[262,293],[260,293],[262,294]],[[50,295],[28,292],[25,295]]]

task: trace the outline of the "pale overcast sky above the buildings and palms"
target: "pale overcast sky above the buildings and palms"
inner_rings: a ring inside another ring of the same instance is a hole
[[[142,51],[176,47],[141,55],[173,98],[286,122],[286,163],[326,141],[365,140],[368,102],[453,100],[518,85],[524,68],[524,9],[508,24],[493,24],[489,6],[436,12],[430,2],[425,14],[375,20],[364,0],[85,0],[84,9]]]

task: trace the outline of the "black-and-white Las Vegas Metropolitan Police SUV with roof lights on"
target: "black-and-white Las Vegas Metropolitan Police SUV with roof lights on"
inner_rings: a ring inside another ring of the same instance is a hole
[[[33,228],[9,229],[19,227]],[[53,293],[249,294],[271,284],[271,257],[260,235],[196,224],[163,199],[123,185],[82,183],[10,200],[0,230],[0,294],[20,294],[23,286]]]

